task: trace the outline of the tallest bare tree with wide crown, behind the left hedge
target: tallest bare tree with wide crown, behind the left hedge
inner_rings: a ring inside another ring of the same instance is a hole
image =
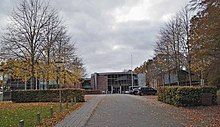
[[[45,30],[56,11],[49,8],[49,3],[40,0],[23,0],[11,14],[11,23],[2,37],[6,58],[19,58],[30,61],[31,88],[35,86],[35,64],[39,60]]]

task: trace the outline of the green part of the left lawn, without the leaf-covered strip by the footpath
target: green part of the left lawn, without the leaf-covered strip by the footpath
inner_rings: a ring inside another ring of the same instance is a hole
[[[59,103],[0,102],[0,127],[16,127],[20,120],[24,120],[25,127],[36,126],[37,113],[40,112],[41,121],[49,119],[51,106],[59,114]]]

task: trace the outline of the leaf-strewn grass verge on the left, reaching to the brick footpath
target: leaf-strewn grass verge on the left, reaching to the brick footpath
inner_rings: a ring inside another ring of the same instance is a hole
[[[16,127],[20,120],[24,120],[25,127],[36,126],[37,113],[40,113],[40,127],[54,126],[66,115],[79,108],[83,103],[66,107],[60,112],[59,103],[0,103],[0,127]],[[53,107],[54,116],[51,118],[50,108]]]

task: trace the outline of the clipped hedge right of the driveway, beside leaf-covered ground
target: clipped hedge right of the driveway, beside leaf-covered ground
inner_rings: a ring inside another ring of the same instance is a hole
[[[216,87],[162,87],[158,90],[158,100],[175,106],[199,106],[203,94],[212,95],[212,104],[216,104]]]

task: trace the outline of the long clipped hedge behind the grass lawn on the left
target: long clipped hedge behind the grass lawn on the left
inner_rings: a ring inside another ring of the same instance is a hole
[[[50,89],[50,90],[19,90],[12,91],[12,102],[59,102],[60,91],[62,102],[71,101],[76,97],[77,102],[83,102],[84,90],[82,89]]]

